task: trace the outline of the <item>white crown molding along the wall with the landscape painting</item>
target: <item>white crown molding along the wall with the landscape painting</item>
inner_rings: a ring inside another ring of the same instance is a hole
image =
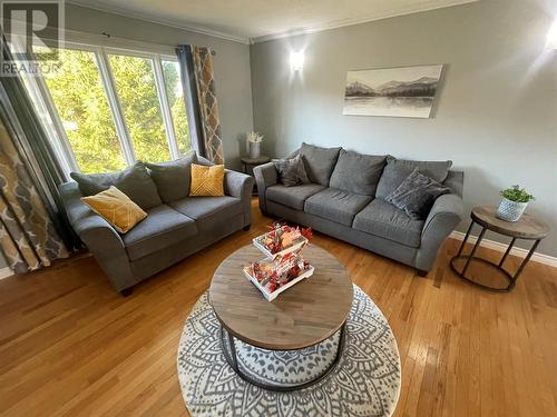
[[[412,14],[412,13],[419,13],[422,11],[428,11],[428,10],[436,10],[436,9],[444,9],[448,7],[452,6],[460,6],[460,4],[467,4],[467,3],[473,3],[480,0],[451,0],[444,4],[432,4],[428,2],[422,3],[419,7],[416,8],[410,8],[410,9],[401,9],[399,11],[393,11],[390,13],[383,13],[383,14],[373,14],[373,16],[368,16],[368,17],[361,17],[361,18],[351,18],[351,19],[343,19],[343,20],[336,20],[334,22],[329,22],[329,23],[323,23],[323,24],[317,24],[309,28],[301,28],[301,29],[295,29],[295,30],[289,30],[289,31],[283,31],[283,32],[276,32],[276,33],[270,33],[270,34],[263,34],[261,37],[254,37],[251,38],[251,43],[261,43],[265,42],[268,40],[275,40],[275,39],[283,39],[283,38],[290,38],[290,37],[295,37],[299,34],[309,34],[309,33],[316,33],[316,32],[322,32],[325,30],[331,30],[331,29],[338,29],[338,28],[344,28],[346,26],[354,26],[354,24],[361,24],[361,23],[368,23],[372,22],[375,20],[383,20],[383,19],[389,19],[389,18],[395,18],[398,16],[405,16],[405,14]]]

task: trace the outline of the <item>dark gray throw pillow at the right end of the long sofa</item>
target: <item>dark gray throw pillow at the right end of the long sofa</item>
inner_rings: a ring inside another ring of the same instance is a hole
[[[414,220],[424,219],[436,199],[449,193],[450,189],[432,180],[429,177],[420,173],[418,168],[414,168],[402,183],[387,196],[385,200],[404,210],[405,214]]]

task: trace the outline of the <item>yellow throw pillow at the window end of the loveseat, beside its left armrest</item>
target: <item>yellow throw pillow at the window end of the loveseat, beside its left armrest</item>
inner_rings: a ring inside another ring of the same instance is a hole
[[[114,186],[95,196],[82,197],[81,201],[120,234],[131,230],[134,226],[147,217],[147,214],[139,206]]]

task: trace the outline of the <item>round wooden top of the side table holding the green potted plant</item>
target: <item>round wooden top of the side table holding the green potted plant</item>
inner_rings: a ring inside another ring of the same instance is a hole
[[[550,231],[549,226],[527,214],[518,221],[501,220],[497,217],[497,207],[491,206],[475,207],[471,218],[489,230],[518,239],[543,239]]]

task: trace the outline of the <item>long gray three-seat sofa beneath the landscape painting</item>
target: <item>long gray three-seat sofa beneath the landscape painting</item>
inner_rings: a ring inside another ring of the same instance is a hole
[[[420,276],[432,268],[440,246],[462,220],[463,172],[449,170],[450,161],[404,161],[306,143],[291,157],[296,153],[302,153],[311,183],[283,186],[273,162],[254,169],[264,215],[392,258],[414,267]],[[419,220],[384,199],[414,167],[450,188]]]

